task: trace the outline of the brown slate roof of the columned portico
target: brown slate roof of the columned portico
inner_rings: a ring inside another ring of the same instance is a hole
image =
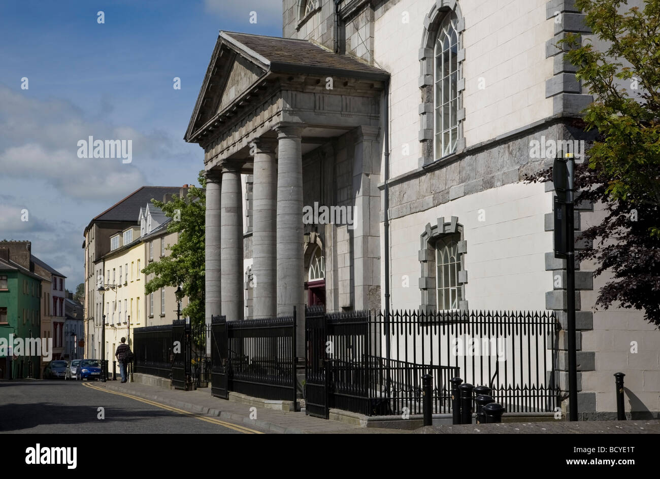
[[[309,40],[223,31],[220,31],[220,37],[248,54],[257,53],[257,59],[273,72],[328,73],[372,80],[389,77],[385,70],[366,65],[349,55],[338,55]]]

